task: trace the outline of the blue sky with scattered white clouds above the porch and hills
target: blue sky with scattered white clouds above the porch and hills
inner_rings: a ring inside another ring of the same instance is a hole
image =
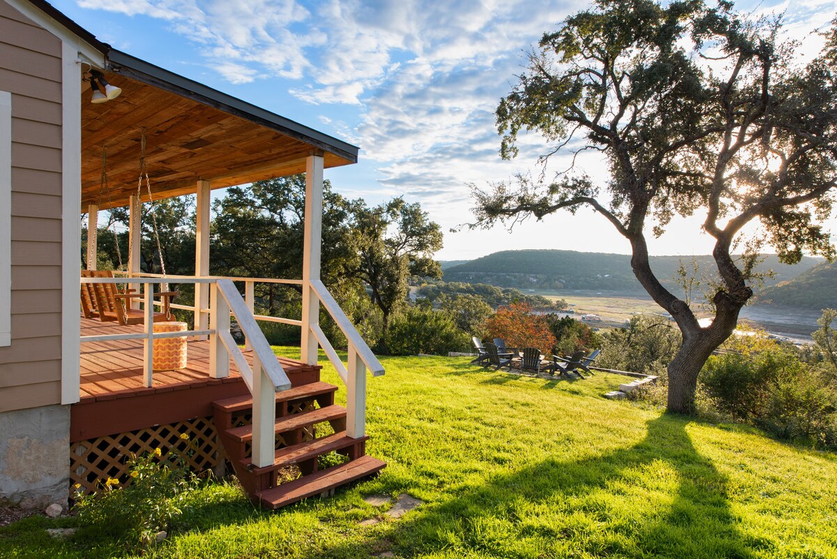
[[[537,172],[535,135],[503,162],[494,110],[542,33],[587,3],[575,0],[54,0],[116,49],[361,147],[360,162],[326,171],[338,192],[379,203],[418,201],[445,231],[441,259],[501,249],[629,253],[592,211],[529,221],[509,233],[449,233],[470,219],[468,183]],[[834,0],[738,3],[785,12],[788,33],[815,54],[810,32]],[[596,156],[579,165],[603,178]],[[675,220],[653,254],[707,254],[700,216]],[[834,224],[834,223],[833,223]]]

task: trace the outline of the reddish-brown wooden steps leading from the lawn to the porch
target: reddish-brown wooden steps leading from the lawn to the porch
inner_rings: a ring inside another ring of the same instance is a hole
[[[273,464],[256,467],[250,456],[253,426],[240,422],[252,416],[249,396],[213,402],[215,427],[242,487],[255,504],[278,509],[341,485],[377,474],[387,464],[366,455],[367,436],[351,438],[346,433],[346,408],[334,403],[337,387],[310,382],[276,394],[274,431],[284,446],[275,451]],[[316,438],[316,425],[329,423],[333,434]],[[319,469],[318,459],[336,452],[345,464]],[[280,484],[280,469],[295,467],[302,476]]]

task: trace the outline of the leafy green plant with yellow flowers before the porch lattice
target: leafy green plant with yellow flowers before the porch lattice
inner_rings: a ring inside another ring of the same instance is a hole
[[[191,449],[185,433],[181,440],[186,447],[182,455],[172,449],[164,457],[159,448],[132,455],[125,479],[109,478],[98,492],[84,495],[76,485],[74,510],[82,532],[94,531],[133,546],[151,543],[158,532],[167,530],[182,513],[187,491],[198,483],[183,459]]]

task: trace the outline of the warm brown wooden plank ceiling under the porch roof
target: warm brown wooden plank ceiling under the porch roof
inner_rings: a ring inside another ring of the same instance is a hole
[[[122,88],[119,97],[102,104],[90,103],[89,93],[82,99],[82,211],[94,203],[102,209],[126,206],[136,193],[143,127],[146,170],[156,199],[195,192],[202,179],[214,189],[305,172],[306,157],[319,151],[198,100],[118,74],[107,79]],[[100,187],[103,146],[110,192]],[[327,151],[324,155],[325,167],[351,163]]]

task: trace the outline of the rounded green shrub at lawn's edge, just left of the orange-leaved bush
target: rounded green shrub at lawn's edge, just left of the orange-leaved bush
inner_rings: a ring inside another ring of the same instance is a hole
[[[446,355],[468,347],[469,339],[448,313],[409,308],[390,323],[387,346],[393,355]]]

